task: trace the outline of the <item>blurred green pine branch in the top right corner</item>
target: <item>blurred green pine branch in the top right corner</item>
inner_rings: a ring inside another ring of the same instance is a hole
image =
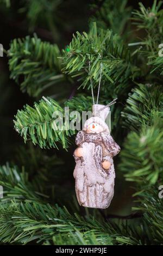
[[[133,24],[138,29],[144,29],[146,36],[142,39],[140,53],[144,63],[148,65],[151,74],[162,74],[162,58],[158,56],[159,45],[162,42],[162,1],[153,1],[151,8],[145,8],[140,3],[140,10],[133,11]]]

